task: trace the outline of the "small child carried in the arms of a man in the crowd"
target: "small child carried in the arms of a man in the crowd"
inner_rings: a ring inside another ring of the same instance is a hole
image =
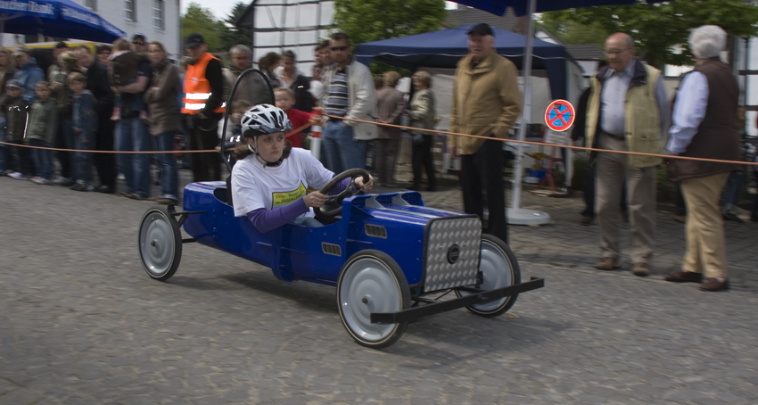
[[[139,65],[145,60],[144,55],[131,51],[126,39],[117,39],[113,43],[113,54],[108,59],[111,61],[108,67],[108,79],[112,87],[123,87],[135,83],[139,75]],[[113,101],[111,120],[120,120],[121,107],[123,107],[121,96],[117,93]],[[136,104],[131,106],[131,110],[139,110],[139,118],[147,120],[146,106],[141,103],[139,97],[136,97]]]

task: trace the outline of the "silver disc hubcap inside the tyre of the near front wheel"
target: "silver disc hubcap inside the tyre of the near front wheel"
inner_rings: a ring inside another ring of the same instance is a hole
[[[346,270],[340,284],[342,317],[358,338],[364,341],[381,341],[397,324],[372,324],[371,312],[400,310],[400,288],[397,280],[382,262],[359,259]]]

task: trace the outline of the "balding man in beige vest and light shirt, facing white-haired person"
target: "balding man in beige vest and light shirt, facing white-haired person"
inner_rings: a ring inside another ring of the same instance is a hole
[[[588,145],[608,151],[662,153],[670,117],[660,70],[634,56],[634,41],[623,33],[606,39],[608,66],[590,82],[586,135]],[[597,164],[597,223],[603,258],[596,269],[613,270],[621,262],[619,208],[624,184],[631,230],[632,273],[650,274],[655,244],[656,157],[600,152],[590,155]]]

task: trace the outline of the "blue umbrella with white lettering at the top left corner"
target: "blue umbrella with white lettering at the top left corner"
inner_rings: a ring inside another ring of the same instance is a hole
[[[0,0],[0,34],[113,42],[126,33],[71,0]]]

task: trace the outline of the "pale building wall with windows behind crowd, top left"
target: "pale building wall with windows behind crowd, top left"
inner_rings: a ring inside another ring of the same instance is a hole
[[[72,0],[85,5],[87,0]],[[160,41],[172,56],[180,55],[180,0],[163,0],[163,28],[153,25],[152,5],[154,0],[134,0],[136,4],[136,21],[128,21],[124,0],[95,0],[95,12],[127,33],[127,38],[137,32],[144,34],[149,41]],[[3,45],[12,46],[23,42],[23,36],[3,34]],[[74,41],[78,42],[78,41]]]

